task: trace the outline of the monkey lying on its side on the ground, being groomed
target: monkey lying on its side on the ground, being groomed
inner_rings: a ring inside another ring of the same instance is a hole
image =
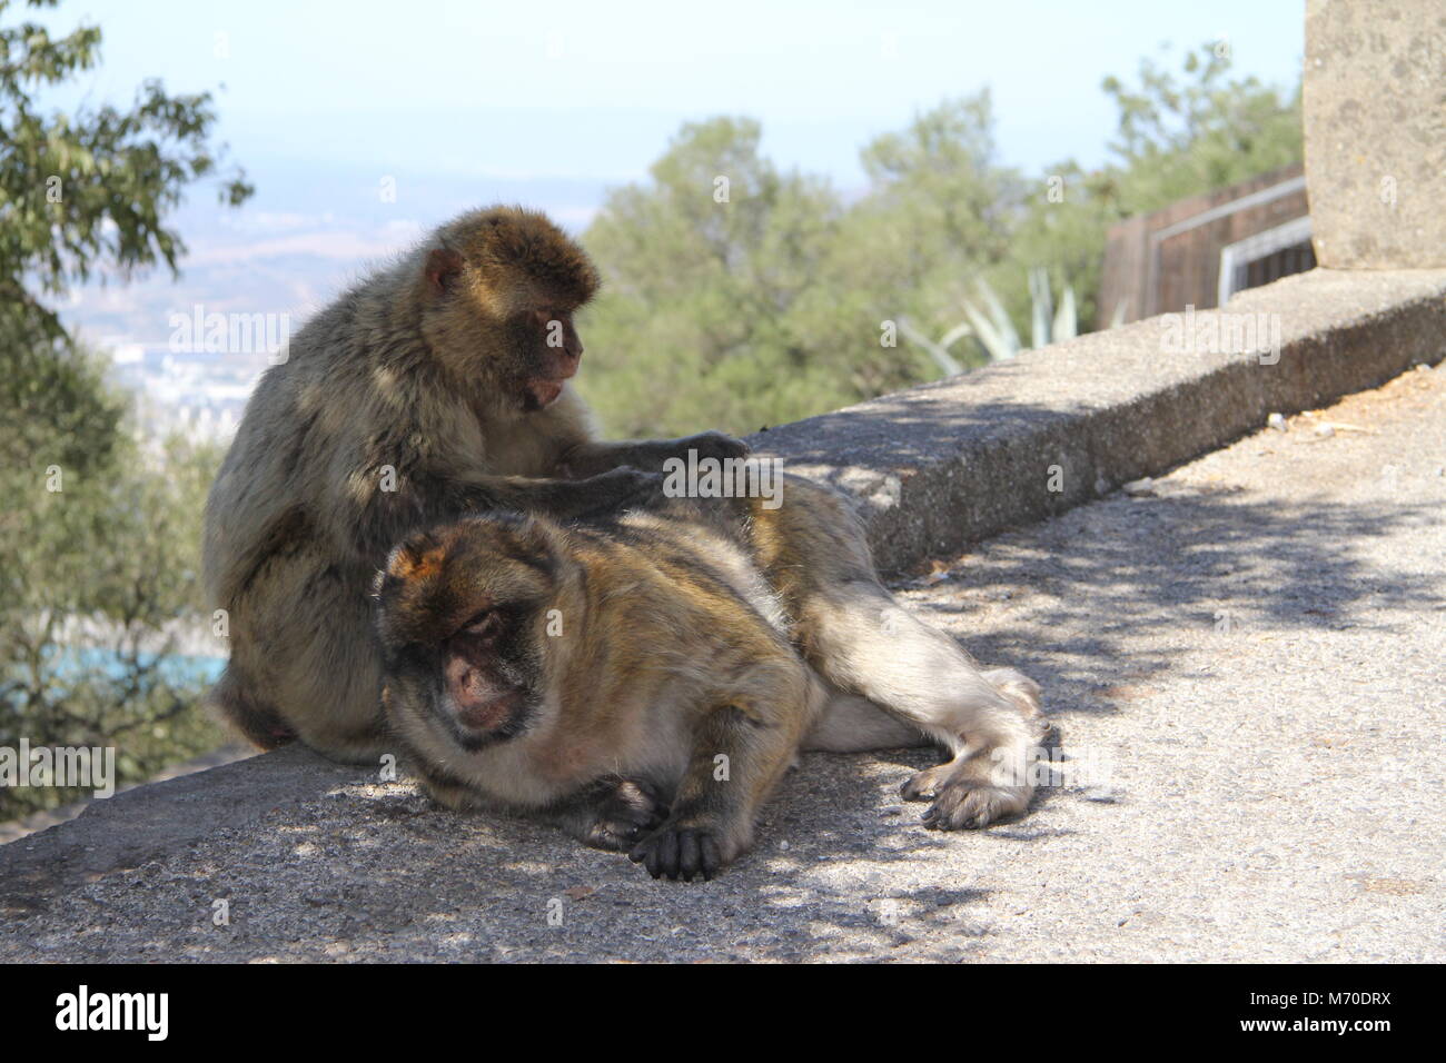
[[[902,610],[853,512],[798,477],[778,509],[470,516],[398,547],[377,600],[382,700],[432,795],[544,811],[654,878],[742,852],[800,748],[940,742],[904,785],[940,829],[1032,791],[1038,687]]]

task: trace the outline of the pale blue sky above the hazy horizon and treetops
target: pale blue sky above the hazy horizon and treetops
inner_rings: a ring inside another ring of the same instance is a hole
[[[681,121],[733,113],[762,120],[779,162],[847,185],[868,137],[983,84],[1009,162],[1096,162],[1113,129],[1100,80],[1161,42],[1223,36],[1239,69],[1275,82],[1303,49],[1301,0],[137,0],[49,20],[81,14],[106,32],[95,95],[158,74],[172,90],[224,82],[223,135],[253,168],[610,181],[641,175]]]

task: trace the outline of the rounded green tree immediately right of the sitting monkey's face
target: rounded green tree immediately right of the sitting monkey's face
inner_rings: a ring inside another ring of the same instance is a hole
[[[794,320],[842,207],[826,182],[779,174],[758,139],[749,120],[684,126],[584,234],[606,286],[583,389],[609,431],[743,432],[852,398]]]

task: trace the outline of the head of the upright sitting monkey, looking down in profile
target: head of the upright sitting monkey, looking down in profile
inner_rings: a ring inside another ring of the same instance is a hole
[[[573,315],[599,276],[547,215],[521,207],[464,214],[432,234],[421,283],[424,336],[461,386],[532,412],[577,373],[583,341]]]

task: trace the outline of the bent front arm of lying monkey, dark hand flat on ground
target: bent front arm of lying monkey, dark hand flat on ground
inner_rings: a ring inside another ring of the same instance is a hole
[[[654,878],[710,879],[748,848],[824,697],[791,654],[753,670],[749,686],[750,696],[735,693],[698,719],[672,811],[628,853]]]

